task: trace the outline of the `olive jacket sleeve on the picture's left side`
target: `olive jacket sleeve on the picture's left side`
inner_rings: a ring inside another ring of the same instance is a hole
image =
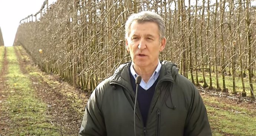
[[[79,136],[106,136],[104,116],[99,105],[101,103],[102,93],[97,88],[91,94],[85,107]]]

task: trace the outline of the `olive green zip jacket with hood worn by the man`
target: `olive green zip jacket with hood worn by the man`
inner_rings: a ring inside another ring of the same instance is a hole
[[[211,136],[206,107],[196,87],[178,74],[174,63],[161,64],[145,126],[137,105],[136,136]],[[122,64],[93,91],[79,136],[134,136],[130,66]]]

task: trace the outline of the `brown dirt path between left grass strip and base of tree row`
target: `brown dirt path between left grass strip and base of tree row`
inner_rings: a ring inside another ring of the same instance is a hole
[[[47,115],[52,117],[51,122],[60,128],[62,135],[78,135],[88,97],[81,90],[62,83],[56,76],[50,76],[50,79],[47,79],[44,73],[40,72],[30,61],[28,54],[22,48],[15,48],[15,52],[23,74],[29,75],[37,96],[47,103],[49,107]],[[48,84],[46,80],[53,83]],[[66,90],[66,93],[62,90]],[[76,100],[81,102],[76,103]],[[74,104],[79,106],[74,106]]]

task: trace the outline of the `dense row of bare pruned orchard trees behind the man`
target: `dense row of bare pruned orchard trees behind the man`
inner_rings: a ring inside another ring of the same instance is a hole
[[[145,10],[165,20],[167,46],[162,60],[176,62],[180,73],[196,85],[202,82],[209,89],[236,93],[236,83],[242,82],[242,95],[247,90],[253,96],[252,0],[58,0],[40,19],[21,21],[14,45],[22,45],[46,72],[91,91],[131,60],[124,46],[125,21]],[[227,76],[232,77],[233,90],[227,89]]]

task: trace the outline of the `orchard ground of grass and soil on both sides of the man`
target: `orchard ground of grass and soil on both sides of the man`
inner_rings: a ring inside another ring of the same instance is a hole
[[[20,46],[0,47],[0,72],[1,136],[78,135],[88,100],[82,90],[41,72]],[[227,77],[226,81],[231,92],[232,80]],[[255,103],[212,96],[201,87],[198,90],[213,136],[256,135]],[[241,90],[239,82],[237,90]]]

